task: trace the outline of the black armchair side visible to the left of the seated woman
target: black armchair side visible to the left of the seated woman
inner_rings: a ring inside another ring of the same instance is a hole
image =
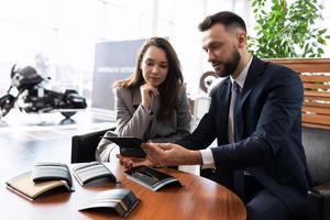
[[[95,153],[100,142],[100,136],[103,136],[107,131],[114,131],[116,128],[108,130],[96,131],[72,138],[72,163],[84,163],[96,161]]]

